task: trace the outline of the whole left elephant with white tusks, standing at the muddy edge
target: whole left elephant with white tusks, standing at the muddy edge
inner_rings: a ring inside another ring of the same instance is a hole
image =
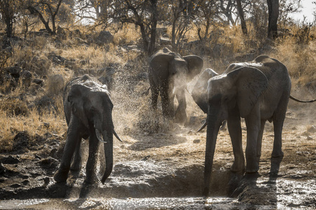
[[[65,86],[63,105],[68,129],[60,167],[54,175],[55,181],[65,182],[70,169],[81,169],[81,138],[88,138],[85,183],[98,181],[95,171],[99,141],[104,144],[106,167],[101,182],[105,183],[113,167],[113,134],[121,141],[114,131],[113,104],[106,85],[88,75],[74,78]]]

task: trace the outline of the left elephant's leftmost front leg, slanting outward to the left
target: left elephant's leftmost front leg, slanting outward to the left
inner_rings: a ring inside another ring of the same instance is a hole
[[[67,130],[67,139],[62,153],[62,159],[60,161],[60,167],[54,175],[56,182],[64,182],[67,180],[68,172],[70,170],[70,163],[74,149],[77,147],[79,140],[81,140],[82,127],[78,124],[79,119],[72,116],[70,118],[70,124]]]

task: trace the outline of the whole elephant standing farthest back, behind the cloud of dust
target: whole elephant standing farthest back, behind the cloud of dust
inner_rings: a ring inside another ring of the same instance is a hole
[[[174,118],[185,123],[185,88],[188,82],[200,73],[203,59],[197,55],[182,57],[168,48],[158,50],[150,57],[149,80],[152,92],[152,108],[157,109],[157,99],[162,97],[162,113],[166,118]],[[174,97],[178,108],[174,111]]]

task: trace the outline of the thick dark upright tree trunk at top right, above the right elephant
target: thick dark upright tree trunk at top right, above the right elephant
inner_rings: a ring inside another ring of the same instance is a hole
[[[279,1],[267,0],[268,3],[268,38],[277,38],[277,18],[279,18]]]

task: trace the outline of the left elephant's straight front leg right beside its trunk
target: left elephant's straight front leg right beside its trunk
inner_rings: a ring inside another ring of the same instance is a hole
[[[86,183],[96,183],[98,177],[96,176],[96,160],[98,159],[99,141],[96,137],[95,130],[91,131],[89,137],[89,155],[86,162]]]

